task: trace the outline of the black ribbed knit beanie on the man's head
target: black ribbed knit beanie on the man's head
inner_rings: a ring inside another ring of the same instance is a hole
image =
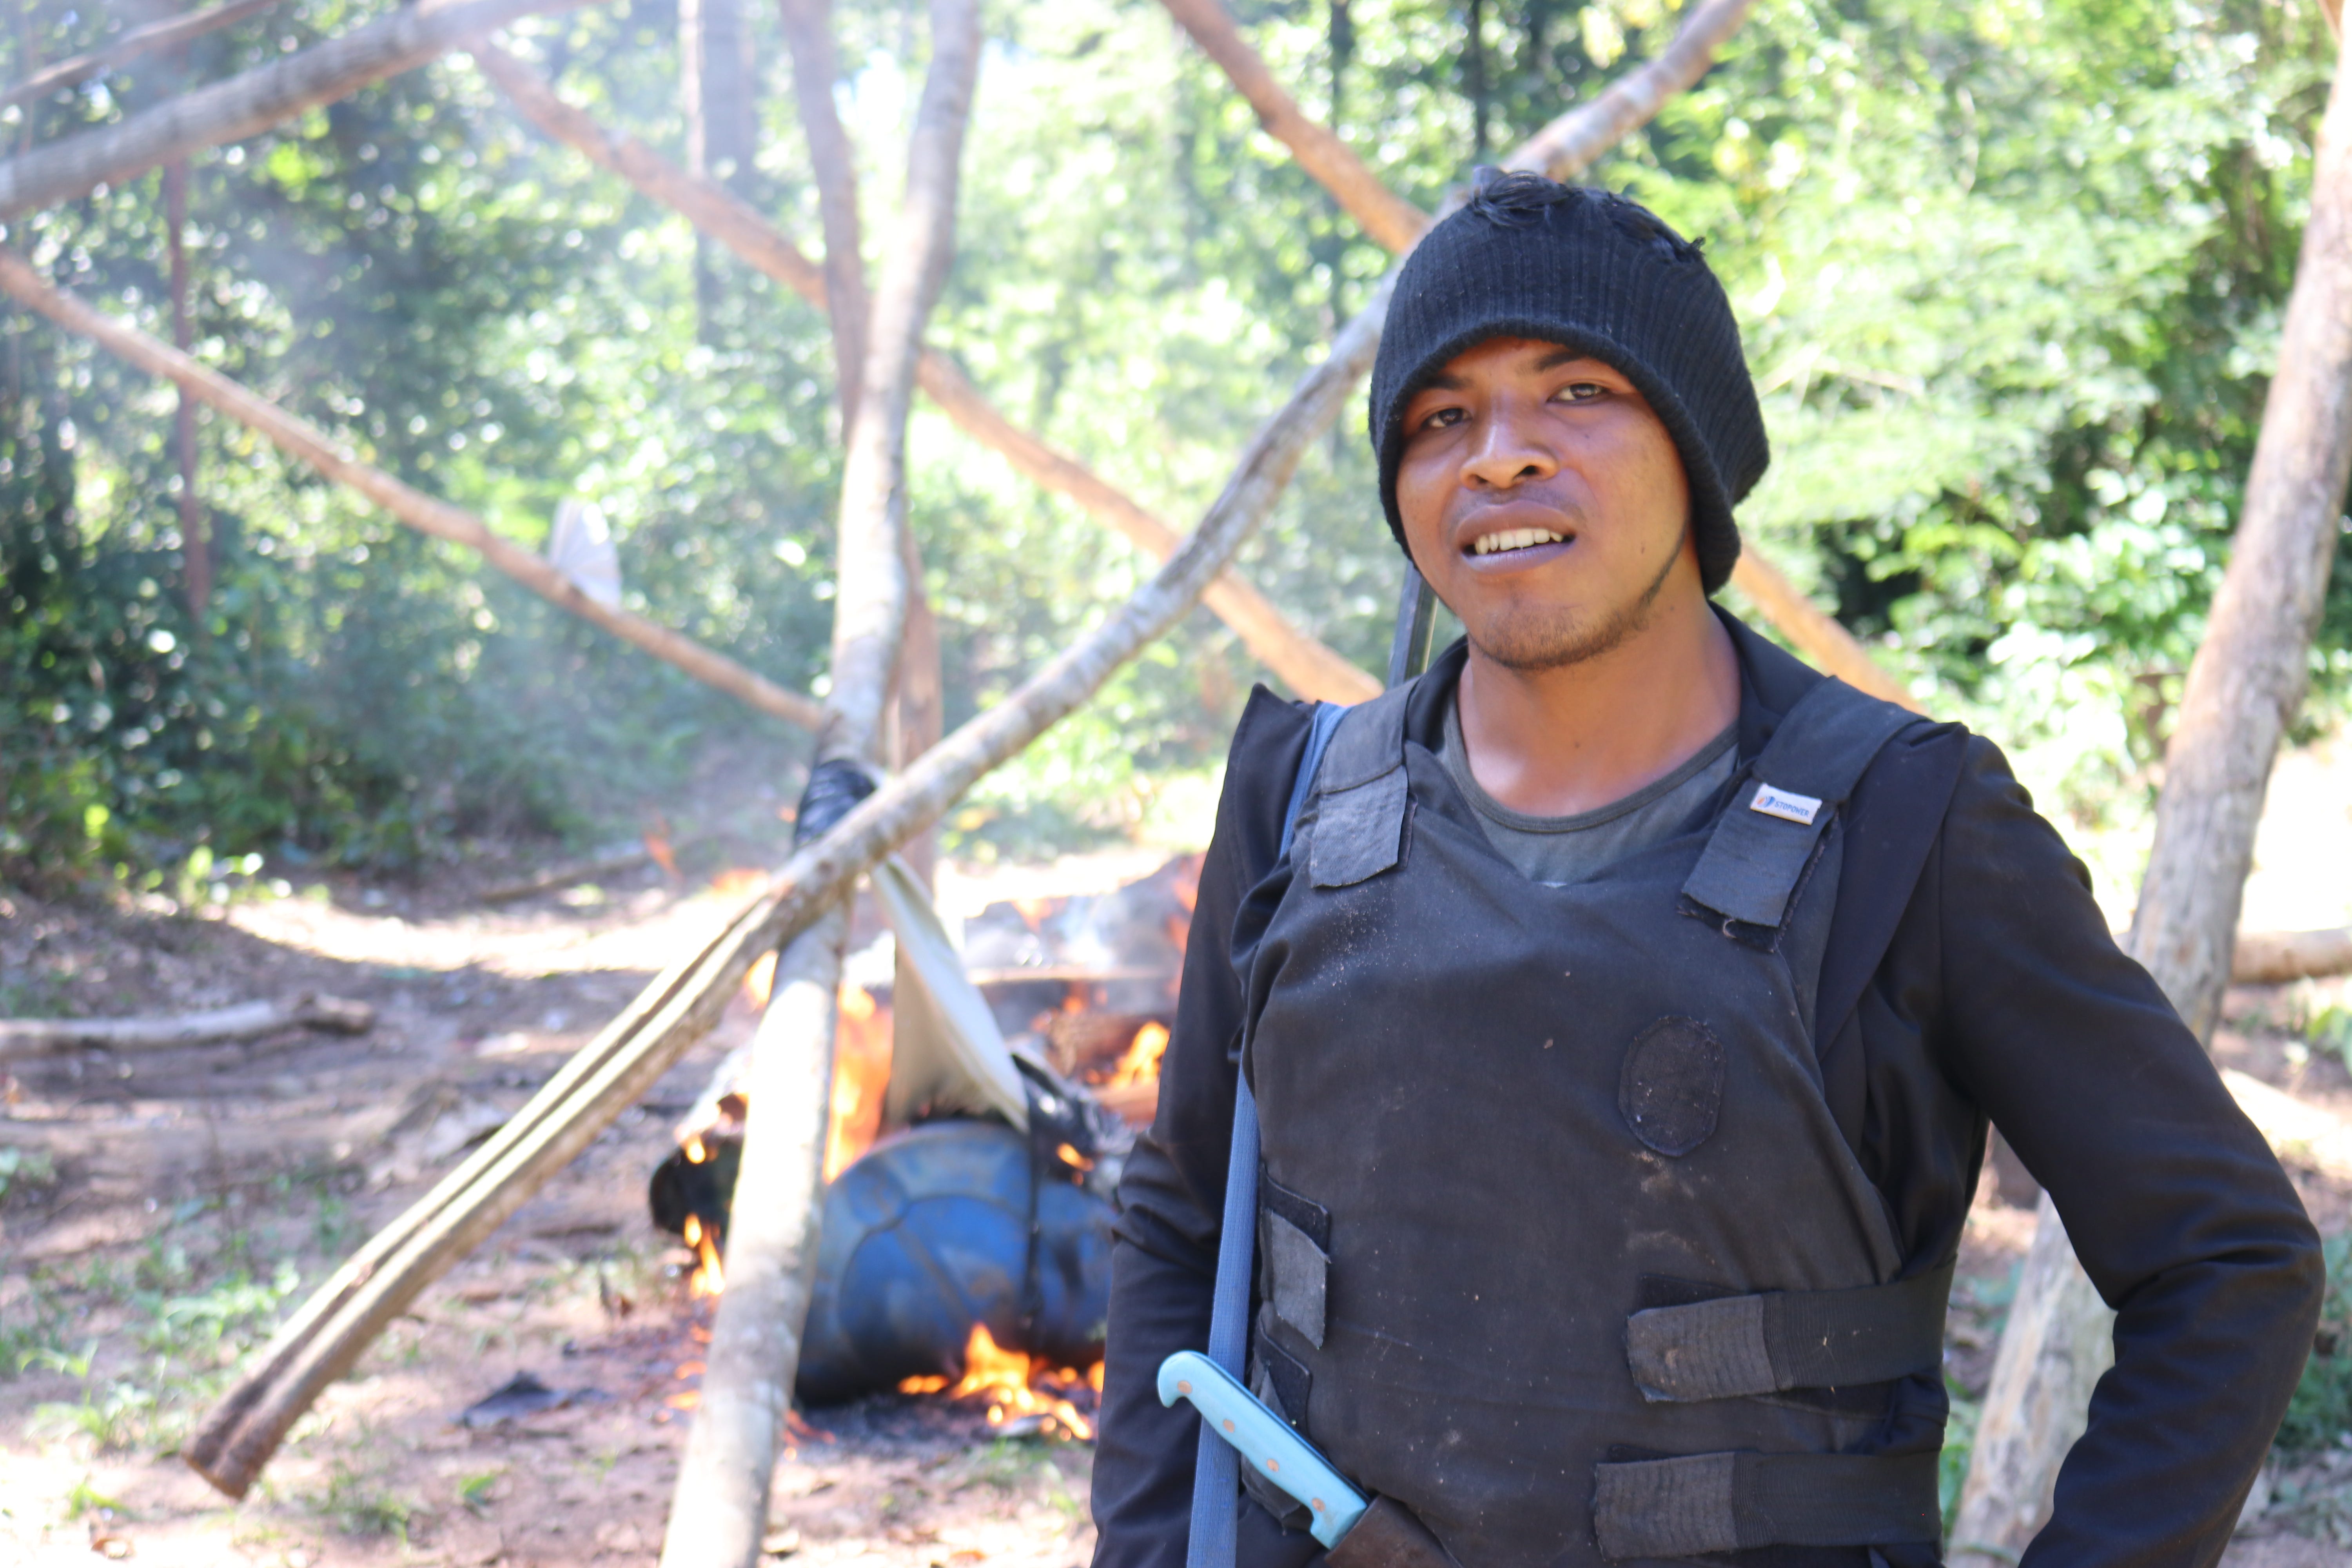
[[[1371,367],[1381,508],[1397,517],[1404,404],[1486,339],[1538,339],[1632,381],[1682,451],[1708,592],[1731,576],[1731,520],[1771,463],[1731,301],[1698,247],[1639,202],[1538,174],[1477,172],[1470,205],[1414,247]]]

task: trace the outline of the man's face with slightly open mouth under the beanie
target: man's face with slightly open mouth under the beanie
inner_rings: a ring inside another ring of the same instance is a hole
[[[1486,339],[1404,407],[1397,512],[1470,644],[1512,670],[1606,654],[1698,595],[1675,440],[1616,369]]]

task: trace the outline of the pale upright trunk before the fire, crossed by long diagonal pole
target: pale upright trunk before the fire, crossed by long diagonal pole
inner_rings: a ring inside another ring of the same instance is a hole
[[[908,143],[906,202],[873,296],[842,465],[821,766],[880,762],[908,607],[906,418],[924,320],[955,259],[957,174],[978,68],[978,0],[931,0],[931,68]],[[847,931],[847,907],[835,907],[783,950],[779,992],[760,1020],[736,1220],[727,1229],[727,1293],[710,1324],[710,1371],[677,1467],[663,1568],[753,1568],[760,1559],[816,1279],[833,1009]]]

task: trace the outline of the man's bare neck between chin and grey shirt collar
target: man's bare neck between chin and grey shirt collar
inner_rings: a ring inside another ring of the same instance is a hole
[[[1470,776],[1529,816],[1599,811],[1689,762],[1740,712],[1740,661],[1703,597],[1658,604],[1595,658],[1515,670],[1470,644],[1456,693]]]

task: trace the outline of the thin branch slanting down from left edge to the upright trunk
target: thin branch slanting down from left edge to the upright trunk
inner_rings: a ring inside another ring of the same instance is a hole
[[[713,654],[691,637],[654,625],[644,616],[590,599],[572,578],[548,564],[543,555],[534,555],[532,550],[492,534],[489,524],[473,512],[454,508],[447,501],[435,501],[433,496],[402,484],[381,468],[358,461],[336,447],[334,440],[310,421],[287,414],[275,402],[238,386],[205,364],[198,364],[169,343],[151,339],[129,322],[118,322],[111,315],[92,310],[73,294],[52,287],[16,252],[0,249],[0,292],[12,294],[19,303],[33,310],[40,310],[68,331],[96,339],[103,348],[139,369],[176,381],[198,402],[235,418],[249,430],[266,435],[289,456],[318,468],[336,484],[348,484],[419,534],[430,534],[433,538],[447,538],[449,543],[477,550],[482,559],[546,602],[567,609],[583,621],[602,625],[614,637],[644,649],[654,658],[684,670],[694,679],[717,686],[720,691],[750,703],[760,712],[800,724],[802,729],[816,729],[823,717],[823,710],[809,698],[753,675],[724,654]]]

